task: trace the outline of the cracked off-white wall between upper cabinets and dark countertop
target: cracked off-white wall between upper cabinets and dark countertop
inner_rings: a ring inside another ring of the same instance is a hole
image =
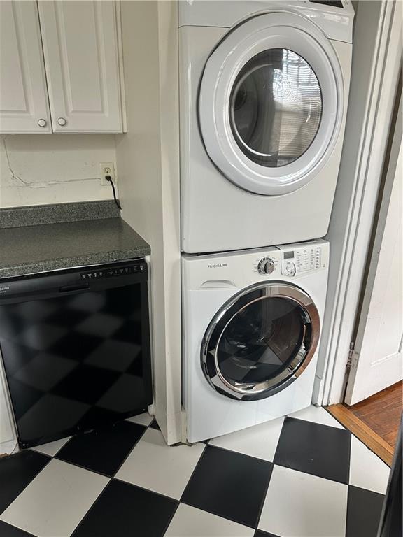
[[[116,162],[115,135],[1,135],[0,208],[111,199],[100,162]]]

